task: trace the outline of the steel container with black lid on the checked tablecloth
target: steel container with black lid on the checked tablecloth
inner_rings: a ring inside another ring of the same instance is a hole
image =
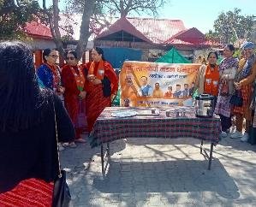
[[[194,109],[197,117],[212,117],[214,112],[214,97],[209,94],[201,94],[195,98]]]

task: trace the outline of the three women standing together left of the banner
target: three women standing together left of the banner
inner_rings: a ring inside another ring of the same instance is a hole
[[[37,69],[41,85],[59,96],[63,96],[65,108],[73,122],[75,142],[86,142],[81,133],[90,133],[98,115],[105,107],[111,105],[118,89],[118,79],[114,69],[104,59],[100,48],[92,50],[92,62],[79,65],[74,50],[65,54],[66,65],[57,67],[57,50],[44,50],[45,63]],[[74,142],[63,143],[62,146],[75,147]]]

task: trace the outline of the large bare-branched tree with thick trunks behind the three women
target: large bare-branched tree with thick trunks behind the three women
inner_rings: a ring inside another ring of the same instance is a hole
[[[59,7],[58,0],[52,0],[52,7],[45,7],[43,0],[44,13],[47,15],[47,23],[51,27],[52,37],[57,44],[61,56],[63,56],[63,38],[59,27]],[[110,25],[105,18],[105,14],[126,16],[132,12],[158,14],[158,8],[163,6],[165,0],[66,0],[67,11],[70,13],[82,14],[80,25],[80,38],[76,46],[78,57],[82,56],[88,38],[92,33],[98,33],[102,28]],[[98,26],[100,26],[98,28]]]

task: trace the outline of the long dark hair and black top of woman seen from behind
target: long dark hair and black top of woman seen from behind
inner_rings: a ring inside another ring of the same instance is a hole
[[[1,205],[4,192],[22,180],[34,178],[47,184],[57,178],[54,108],[58,141],[71,141],[74,127],[61,100],[39,89],[32,53],[21,42],[0,43],[0,101]]]

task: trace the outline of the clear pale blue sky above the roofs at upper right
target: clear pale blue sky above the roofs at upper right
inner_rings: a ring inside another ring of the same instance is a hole
[[[51,3],[52,0],[46,0]],[[41,1],[39,0],[39,3]],[[255,0],[166,0],[159,9],[159,19],[182,20],[186,28],[196,27],[202,33],[213,30],[214,21],[221,12],[235,8],[241,9],[241,15],[255,15]],[[65,0],[60,1],[60,8],[65,8]],[[141,15],[141,17],[148,17]]]

